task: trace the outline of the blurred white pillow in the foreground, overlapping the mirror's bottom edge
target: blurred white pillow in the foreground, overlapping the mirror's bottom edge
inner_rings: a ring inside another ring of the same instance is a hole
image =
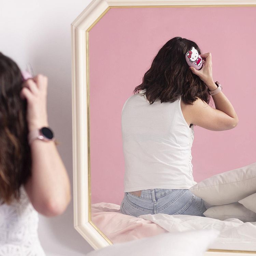
[[[203,256],[208,246],[217,238],[216,229],[162,233],[90,252],[86,256]]]

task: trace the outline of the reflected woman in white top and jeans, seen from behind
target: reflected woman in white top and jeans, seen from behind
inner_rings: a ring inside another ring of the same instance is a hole
[[[203,58],[201,70],[187,65],[185,54],[193,46]],[[139,93],[129,97],[122,110],[125,195],[121,213],[205,217],[207,205],[189,190],[196,184],[191,163],[194,126],[223,131],[238,123],[220,88],[212,96],[216,109],[208,105],[210,91],[216,88],[211,53],[201,54],[195,42],[181,37],[162,46],[142,84],[134,89]]]

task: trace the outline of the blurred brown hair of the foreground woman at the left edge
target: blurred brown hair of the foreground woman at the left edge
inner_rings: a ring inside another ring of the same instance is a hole
[[[27,101],[20,98],[22,74],[17,64],[0,53],[0,202],[19,199],[20,186],[31,175],[26,119]]]

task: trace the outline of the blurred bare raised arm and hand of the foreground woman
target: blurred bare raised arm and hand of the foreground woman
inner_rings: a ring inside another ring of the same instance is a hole
[[[27,99],[29,131],[48,126],[47,77],[37,75],[24,83],[20,96]],[[31,145],[32,175],[25,189],[35,210],[46,216],[65,211],[71,199],[66,168],[53,141],[34,140]]]

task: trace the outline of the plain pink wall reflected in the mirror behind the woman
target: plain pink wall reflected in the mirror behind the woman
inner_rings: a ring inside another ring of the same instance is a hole
[[[92,203],[122,201],[121,110],[158,50],[176,36],[212,53],[213,79],[239,118],[232,130],[195,127],[195,181],[256,161],[255,24],[256,8],[243,6],[115,8],[102,17],[89,32]]]

